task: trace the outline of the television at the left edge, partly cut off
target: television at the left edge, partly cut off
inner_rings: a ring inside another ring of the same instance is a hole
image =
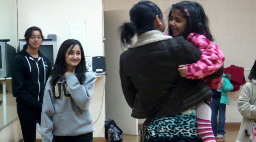
[[[12,59],[16,54],[16,49],[2,41],[4,40],[0,39],[0,77],[10,77]]]

